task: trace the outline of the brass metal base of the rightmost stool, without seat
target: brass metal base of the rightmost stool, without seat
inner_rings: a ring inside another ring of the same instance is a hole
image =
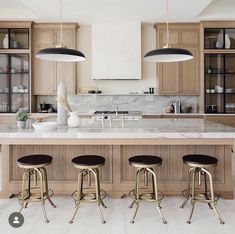
[[[219,221],[221,224],[224,224],[223,219],[221,218],[217,208],[216,204],[217,201],[219,200],[218,194],[214,192],[213,188],[213,179],[211,173],[206,170],[205,168],[209,168],[213,165],[198,165],[198,164],[193,164],[193,163],[186,163],[187,165],[190,166],[189,169],[189,181],[188,181],[188,189],[185,189],[182,192],[182,195],[185,197],[185,201],[183,204],[180,206],[180,208],[184,208],[186,203],[188,202],[189,198],[191,197],[191,212],[189,215],[189,218],[187,220],[187,223],[190,224],[195,208],[196,203],[207,203],[210,209],[213,209],[214,212],[216,213]],[[194,165],[194,166],[193,166]],[[198,175],[198,186],[196,187],[196,180],[195,177]],[[204,177],[204,192],[201,192],[201,176]],[[207,182],[207,177],[209,178],[209,191],[208,191],[208,182]]]

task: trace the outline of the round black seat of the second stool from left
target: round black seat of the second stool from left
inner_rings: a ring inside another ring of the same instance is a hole
[[[105,158],[98,155],[82,155],[72,159],[72,162],[81,166],[95,166],[105,163]]]

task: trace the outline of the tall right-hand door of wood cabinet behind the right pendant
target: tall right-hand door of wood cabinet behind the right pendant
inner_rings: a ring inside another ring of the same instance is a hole
[[[193,47],[184,48],[191,51],[194,58],[180,63],[180,93],[200,95],[199,49]]]

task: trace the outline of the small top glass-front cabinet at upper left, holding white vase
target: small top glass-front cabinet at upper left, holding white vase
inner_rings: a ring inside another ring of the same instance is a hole
[[[29,49],[29,29],[0,28],[0,49]]]

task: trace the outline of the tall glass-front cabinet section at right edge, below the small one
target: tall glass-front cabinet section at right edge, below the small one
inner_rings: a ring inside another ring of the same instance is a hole
[[[235,113],[235,54],[205,54],[205,112]]]

